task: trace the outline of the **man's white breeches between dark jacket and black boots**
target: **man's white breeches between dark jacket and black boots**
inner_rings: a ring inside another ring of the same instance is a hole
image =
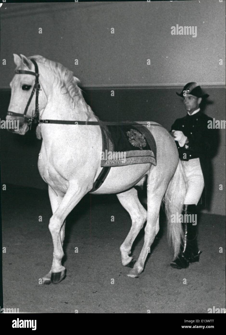
[[[197,205],[204,189],[204,178],[199,158],[182,160],[182,166],[187,178],[187,193],[184,203]]]

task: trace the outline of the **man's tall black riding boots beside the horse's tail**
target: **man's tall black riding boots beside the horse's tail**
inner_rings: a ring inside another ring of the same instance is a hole
[[[189,217],[188,215],[184,215],[184,218],[186,218],[186,221],[188,221],[183,223],[185,241],[181,246],[180,253],[176,260],[170,264],[175,269],[186,269],[189,267],[189,263],[198,262],[199,255],[201,253],[201,251],[199,251],[197,242],[197,206],[184,205],[183,214],[188,214]]]

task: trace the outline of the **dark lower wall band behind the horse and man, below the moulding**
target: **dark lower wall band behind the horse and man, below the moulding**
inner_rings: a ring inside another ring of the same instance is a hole
[[[175,94],[180,88],[85,89],[84,97],[95,114],[104,121],[156,121],[170,129],[175,119],[185,115],[181,99]],[[225,88],[208,87],[210,104],[206,114],[216,120],[225,119]],[[1,119],[5,118],[10,91],[0,90]],[[83,126],[81,126],[83,127]],[[25,136],[1,130],[2,184],[46,188],[38,169],[37,159],[41,141],[35,137],[35,128]],[[220,146],[213,159],[213,194],[211,213],[225,215],[225,129],[220,130]],[[223,184],[223,191],[219,185]]]

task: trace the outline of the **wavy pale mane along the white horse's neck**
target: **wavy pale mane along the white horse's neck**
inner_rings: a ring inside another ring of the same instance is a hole
[[[40,55],[34,55],[28,58],[33,58],[34,60],[46,66],[48,69],[52,70],[52,72],[55,75],[55,78],[57,78],[58,80],[61,93],[69,94],[72,100],[72,104],[75,108],[76,101],[78,101],[76,97],[83,98],[83,95],[82,95],[82,89],[78,86],[78,83],[80,83],[80,80],[74,76],[73,72],[67,69],[61,63],[51,61]]]

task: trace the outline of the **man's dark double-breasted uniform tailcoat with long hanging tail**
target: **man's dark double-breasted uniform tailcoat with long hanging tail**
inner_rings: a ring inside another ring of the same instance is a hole
[[[188,143],[183,147],[180,147],[176,141],[180,159],[200,159],[205,182],[205,192],[201,197],[201,203],[207,207],[209,207],[211,200],[213,182],[211,158],[216,154],[218,146],[218,132],[216,129],[207,128],[209,120],[212,121],[213,125],[213,119],[199,111],[194,115],[187,114],[185,117],[177,119],[171,127],[171,131],[180,130],[188,137]],[[186,155],[184,155],[185,153]]]

